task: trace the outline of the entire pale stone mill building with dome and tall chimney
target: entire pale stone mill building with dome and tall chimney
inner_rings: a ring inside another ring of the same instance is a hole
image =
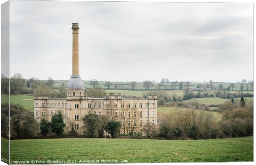
[[[157,125],[157,95],[148,94],[147,99],[123,98],[121,93],[104,93],[103,98],[85,96],[83,80],[79,75],[78,24],[73,23],[72,75],[66,85],[66,98],[49,98],[47,95],[34,95],[34,117],[40,123],[43,118],[51,120],[52,115],[62,112],[65,130],[70,123],[79,134],[84,134],[82,118],[89,114],[106,115],[121,122],[121,134],[133,132],[143,134],[145,125]]]

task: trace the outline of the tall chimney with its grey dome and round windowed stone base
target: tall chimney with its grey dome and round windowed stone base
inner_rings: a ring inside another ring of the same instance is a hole
[[[66,85],[67,100],[81,99],[84,96],[85,87],[79,75],[79,49],[78,49],[78,23],[72,24],[72,75]]]

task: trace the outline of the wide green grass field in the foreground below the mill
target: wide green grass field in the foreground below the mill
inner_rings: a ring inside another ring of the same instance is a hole
[[[139,162],[253,161],[253,137],[210,140],[11,140],[12,160],[128,160]]]

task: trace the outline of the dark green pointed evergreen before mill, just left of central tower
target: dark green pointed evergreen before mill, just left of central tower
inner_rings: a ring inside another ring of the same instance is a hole
[[[52,116],[50,126],[51,131],[57,135],[60,135],[62,132],[64,132],[64,127],[66,127],[66,124],[63,121],[62,113],[60,111],[58,114]]]

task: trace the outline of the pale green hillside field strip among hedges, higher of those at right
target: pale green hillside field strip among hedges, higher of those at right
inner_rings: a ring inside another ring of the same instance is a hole
[[[225,101],[230,101],[228,99],[221,99],[218,97],[206,97],[206,98],[194,98],[183,101],[184,103],[189,103],[191,101],[197,101],[199,104],[223,104]]]

